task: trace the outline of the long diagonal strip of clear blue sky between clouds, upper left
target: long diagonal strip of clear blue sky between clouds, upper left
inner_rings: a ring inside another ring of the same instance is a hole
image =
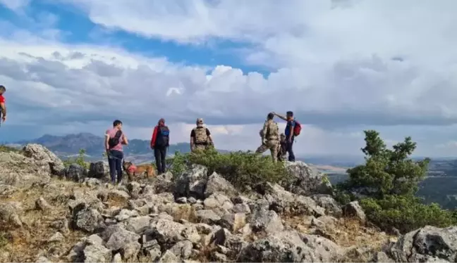
[[[31,1],[24,11],[25,13],[16,13],[0,4],[0,16],[4,22],[31,32],[49,28],[49,23],[53,23],[52,27],[63,33],[59,40],[66,44],[116,46],[143,56],[166,57],[171,63],[210,67],[230,65],[233,68],[240,68],[244,74],[252,71],[260,72],[264,76],[269,74],[267,68],[243,63],[241,50],[254,48],[248,43],[212,39],[211,44],[191,45],[142,37],[123,30],[106,29],[96,25],[87,18],[85,13],[61,3]],[[10,34],[8,31],[0,34],[5,33]]]

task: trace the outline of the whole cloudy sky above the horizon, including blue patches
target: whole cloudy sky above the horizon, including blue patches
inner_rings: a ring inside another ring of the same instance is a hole
[[[296,155],[359,155],[376,129],[457,156],[457,1],[278,3],[0,0],[0,141],[116,119],[150,139],[164,117],[178,143],[202,117],[217,148],[255,150],[292,110]]]

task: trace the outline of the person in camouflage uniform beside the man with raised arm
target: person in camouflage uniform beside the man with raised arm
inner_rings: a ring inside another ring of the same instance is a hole
[[[269,149],[272,153],[273,162],[276,162],[278,160],[279,150],[279,127],[278,124],[273,121],[273,118],[274,114],[269,113],[263,129],[260,130],[262,145],[257,148],[255,153],[264,153],[265,150]]]

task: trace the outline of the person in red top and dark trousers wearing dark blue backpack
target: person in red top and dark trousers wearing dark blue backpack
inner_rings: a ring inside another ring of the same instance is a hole
[[[165,120],[162,118],[157,123],[152,131],[151,148],[154,150],[156,160],[157,174],[164,174],[166,170],[166,149],[169,147],[170,130],[165,125]]]

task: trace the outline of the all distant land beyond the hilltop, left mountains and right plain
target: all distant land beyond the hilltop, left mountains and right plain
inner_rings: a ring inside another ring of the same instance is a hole
[[[59,158],[78,155],[81,148],[86,151],[86,160],[95,161],[104,159],[103,137],[90,133],[68,134],[65,136],[44,135],[38,139],[17,141],[8,143],[10,146],[23,146],[27,143],[39,143],[56,153]],[[150,149],[149,140],[131,139],[128,146],[124,147],[126,160],[135,163],[152,162],[154,155]],[[176,151],[188,153],[189,143],[173,144],[169,148],[169,155]],[[219,150],[221,153],[228,153],[228,150]],[[413,158],[422,159],[422,158]],[[313,164],[319,171],[329,176],[332,184],[347,179],[345,169],[363,163],[359,156],[307,156],[297,158],[308,164]],[[343,168],[343,169],[342,169]],[[428,178],[420,183],[418,196],[425,198],[426,203],[437,202],[446,208],[457,207],[457,160],[456,158],[432,158],[429,164]]]

